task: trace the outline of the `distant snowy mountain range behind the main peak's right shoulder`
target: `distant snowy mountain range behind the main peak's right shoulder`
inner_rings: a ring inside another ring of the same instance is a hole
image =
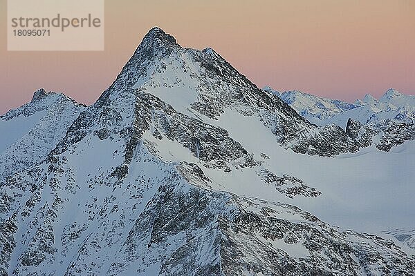
[[[389,89],[379,99],[367,94],[355,103],[326,99],[299,91],[279,93],[269,86],[265,91],[277,95],[300,115],[318,126],[335,124],[346,129],[348,137],[359,136],[360,148],[374,144],[379,150],[415,139],[415,96]]]

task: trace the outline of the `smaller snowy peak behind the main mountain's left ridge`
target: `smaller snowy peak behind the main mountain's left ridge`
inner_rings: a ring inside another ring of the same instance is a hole
[[[84,106],[37,90],[32,101],[0,117],[0,179],[43,161]]]

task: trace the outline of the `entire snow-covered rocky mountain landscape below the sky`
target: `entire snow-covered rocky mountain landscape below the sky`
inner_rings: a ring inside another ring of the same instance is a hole
[[[414,97],[261,90],[151,29],[0,117],[0,275],[415,275]]]

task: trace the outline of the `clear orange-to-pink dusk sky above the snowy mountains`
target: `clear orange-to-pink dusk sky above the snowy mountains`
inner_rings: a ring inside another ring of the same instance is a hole
[[[0,114],[38,88],[92,103],[147,31],[212,47],[260,88],[354,101],[415,94],[415,1],[105,1],[104,52],[8,52],[0,0]]]

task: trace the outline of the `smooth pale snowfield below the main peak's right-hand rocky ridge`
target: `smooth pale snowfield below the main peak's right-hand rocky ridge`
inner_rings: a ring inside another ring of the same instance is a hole
[[[168,94],[158,94],[158,97],[175,109],[183,106],[181,97]],[[356,153],[326,158],[298,155],[275,145],[275,135],[264,128],[259,119],[231,109],[225,110],[218,120],[198,118],[228,130],[230,137],[237,138],[243,148],[264,162],[262,167],[279,175],[294,175],[320,190],[322,195],[287,199],[275,193],[273,186],[264,186],[250,168],[232,170],[229,174],[203,168],[205,174],[214,179],[216,188],[269,201],[287,201],[342,228],[368,233],[394,228],[415,229],[415,219],[409,219],[415,217],[414,141],[396,146],[390,152],[369,146]],[[167,144],[163,144],[156,139],[152,142],[157,143],[163,159],[198,163],[197,158],[178,143],[166,141]],[[269,158],[262,158],[261,153]]]

